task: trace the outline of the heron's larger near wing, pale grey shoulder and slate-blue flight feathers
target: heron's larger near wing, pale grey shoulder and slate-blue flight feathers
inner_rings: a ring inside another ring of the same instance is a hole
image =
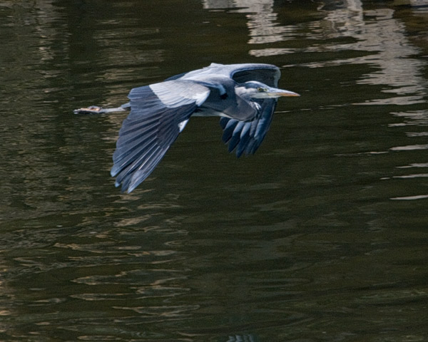
[[[209,93],[205,86],[180,80],[131,90],[131,113],[123,121],[113,154],[116,187],[131,192],[151,174]]]

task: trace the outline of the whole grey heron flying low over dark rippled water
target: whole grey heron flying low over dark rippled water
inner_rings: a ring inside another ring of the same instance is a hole
[[[220,116],[229,152],[254,154],[269,130],[277,98],[299,96],[277,88],[280,76],[270,64],[212,63],[133,88],[130,101],[118,108],[91,106],[74,113],[131,110],[119,131],[111,169],[116,187],[131,192],[155,169],[191,116]]]

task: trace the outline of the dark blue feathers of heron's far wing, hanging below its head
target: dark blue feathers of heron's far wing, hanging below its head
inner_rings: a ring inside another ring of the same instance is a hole
[[[261,104],[260,117],[253,121],[239,121],[230,118],[220,118],[223,128],[223,141],[229,143],[229,152],[235,150],[236,156],[253,155],[265,139],[270,128],[273,112],[277,101],[265,99]]]

